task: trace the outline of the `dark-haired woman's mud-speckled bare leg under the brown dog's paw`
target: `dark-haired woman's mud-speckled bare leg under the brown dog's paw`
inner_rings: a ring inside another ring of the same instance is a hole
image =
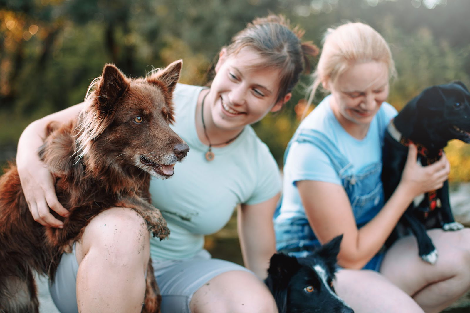
[[[138,213],[102,211],[86,226],[76,257],[78,312],[141,312],[149,231]]]

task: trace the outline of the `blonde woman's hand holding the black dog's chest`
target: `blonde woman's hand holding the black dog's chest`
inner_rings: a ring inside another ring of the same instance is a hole
[[[416,161],[418,151],[415,145],[409,145],[408,157],[400,184],[404,184],[413,196],[442,188],[450,172],[450,164],[445,154],[439,161],[422,166]]]

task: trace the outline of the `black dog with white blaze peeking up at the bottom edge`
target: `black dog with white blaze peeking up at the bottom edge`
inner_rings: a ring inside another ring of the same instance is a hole
[[[335,293],[336,257],[343,235],[305,258],[276,253],[265,282],[279,313],[354,313]]]

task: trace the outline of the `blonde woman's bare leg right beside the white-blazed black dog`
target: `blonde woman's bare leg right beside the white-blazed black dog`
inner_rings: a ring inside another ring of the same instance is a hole
[[[413,298],[374,271],[341,269],[335,290],[355,313],[423,313]]]

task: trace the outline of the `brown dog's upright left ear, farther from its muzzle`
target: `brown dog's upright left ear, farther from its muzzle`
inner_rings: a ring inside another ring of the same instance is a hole
[[[118,98],[129,88],[130,80],[114,64],[106,64],[96,88],[100,112],[109,114]]]

